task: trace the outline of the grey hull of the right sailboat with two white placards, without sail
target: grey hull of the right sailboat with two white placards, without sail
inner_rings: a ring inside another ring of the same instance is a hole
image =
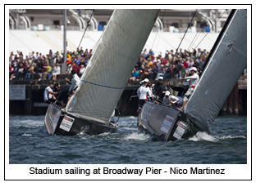
[[[137,125],[140,131],[152,135],[153,140],[189,139],[198,131],[211,134],[208,128],[202,130],[194,125],[180,110],[152,102],[144,104],[139,113]]]

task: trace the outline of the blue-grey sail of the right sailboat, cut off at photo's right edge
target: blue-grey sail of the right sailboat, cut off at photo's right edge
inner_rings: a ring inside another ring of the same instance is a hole
[[[185,113],[201,129],[213,123],[247,67],[247,11],[233,12],[193,95],[185,105]]]

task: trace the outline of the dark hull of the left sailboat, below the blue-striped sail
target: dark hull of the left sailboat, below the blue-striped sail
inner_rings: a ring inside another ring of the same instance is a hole
[[[72,136],[81,133],[98,135],[104,132],[114,133],[117,127],[113,124],[101,124],[62,111],[57,105],[48,105],[44,118],[44,125],[50,135]]]

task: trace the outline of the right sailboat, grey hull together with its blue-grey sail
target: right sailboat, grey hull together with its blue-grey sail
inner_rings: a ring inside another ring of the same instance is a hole
[[[232,10],[184,110],[146,102],[137,125],[155,140],[189,139],[209,127],[247,67],[247,11]]]

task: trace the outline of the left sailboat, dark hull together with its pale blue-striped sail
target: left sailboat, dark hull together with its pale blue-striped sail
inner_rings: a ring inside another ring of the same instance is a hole
[[[48,105],[44,124],[51,135],[114,133],[112,113],[149,38],[160,10],[115,10],[75,95],[62,109]]]

